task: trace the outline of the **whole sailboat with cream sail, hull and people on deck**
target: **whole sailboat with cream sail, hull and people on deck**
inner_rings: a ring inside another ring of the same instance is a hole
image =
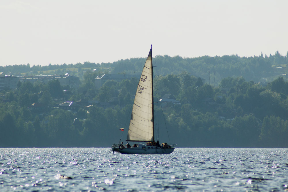
[[[175,145],[157,143],[154,140],[154,101],[152,45],[146,59],[134,98],[127,142],[143,142],[130,145],[113,144],[113,153],[122,154],[170,154]]]

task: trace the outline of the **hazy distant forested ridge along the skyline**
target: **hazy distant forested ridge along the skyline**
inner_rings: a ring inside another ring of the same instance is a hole
[[[49,64],[47,66],[29,64],[0,66],[0,72],[11,75],[40,75],[65,74],[69,73],[84,79],[85,72],[96,70],[97,75],[102,74],[138,74],[143,69],[145,58],[130,58],[118,60],[112,63],[84,62],[76,64]],[[247,81],[259,82],[260,79],[267,79],[268,82],[274,80],[279,73],[287,73],[288,52],[286,55],[279,54],[263,55],[253,57],[240,57],[238,55],[224,56],[201,56],[196,58],[182,58],[180,56],[170,57],[168,55],[157,55],[153,59],[155,74],[158,75],[177,75],[183,71],[191,75],[201,77],[206,83],[219,85],[221,80],[226,77],[244,77]],[[283,66],[281,72],[275,74],[274,69]],[[273,68],[274,67],[274,68]],[[21,73],[21,74],[19,74]],[[284,77],[287,80],[287,77]],[[209,82],[210,79],[210,82]],[[214,81],[215,79],[215,81]]]

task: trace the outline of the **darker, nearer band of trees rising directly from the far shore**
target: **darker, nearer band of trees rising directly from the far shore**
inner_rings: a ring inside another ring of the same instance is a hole
[[[143,68],[143,66],[142,66]],[[58,80],[47,84],[24,82],[0,98],[0,147],[109,147],[128,129],[138,79],[106,81],[93,86],[97,73],[87,71],[77,90]],[[155,76],[156,138],[179,147],[287,147],[288,82],[278,77],[263,86],[244,77],[223,78],[219,87],[187,72]],[[66,96],[63,90],[71,90]],[[76,102],[116,98],[118,104],[78,111],[58,108],[57,99]],[[85,93],[89,94],[85,94]],[[172,94],[181,104],[161,107],[159,99]],[[89,95],[89,96],[87,96]],[[38,111],[32,103],[40,103]],[[161,116],[162,112],[164,116]],[[169,137],[166,136],[167,126]],[[122,135],[122,140],[126,135]]]

